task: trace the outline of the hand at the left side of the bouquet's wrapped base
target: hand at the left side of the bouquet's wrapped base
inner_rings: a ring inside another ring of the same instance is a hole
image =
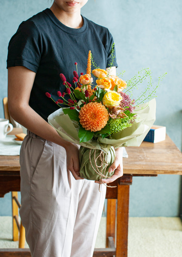
[[[79,176],[80,165],[78,145],[68,143],[68,146],[65,147],[65,150],[67,170],[70,170],[70,172],[76,180],[81,180],[82,178]]]

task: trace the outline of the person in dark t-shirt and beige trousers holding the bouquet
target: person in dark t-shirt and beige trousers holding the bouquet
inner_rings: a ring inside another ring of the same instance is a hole
[[[93,255],[106,187],[79,176],[79,147],[66,142],[48,122],[64,91],[59,74],[86,72],[91,50],[96,64],[108,68],[113,38],[108,29],[80,14],[88,0],[55,0],[50,9],[22,22],[8,46],[8,106],[28,129],[20,151],[20,216],[32,257]],[[116,59],[110,69],[116,72]],[[111,73],[110,73],[111,74]],[[122,176],[122,153],[110,167],[112,182]]]

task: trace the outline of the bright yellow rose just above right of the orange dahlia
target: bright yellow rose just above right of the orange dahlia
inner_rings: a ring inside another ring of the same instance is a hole
[[[115,91],[108,91],[103,99],[103,105],[105,105],[107,108],[116,107],[120,104],[121,100],[123,100],[123,97],[120,95],[120,93]]]

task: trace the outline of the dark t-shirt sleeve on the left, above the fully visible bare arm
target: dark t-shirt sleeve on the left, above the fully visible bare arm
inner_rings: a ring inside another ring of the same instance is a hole
[[[24,66],[37,72],[41,58],[42,37],[34,22],[22,22],[9,41],[7,68]]]

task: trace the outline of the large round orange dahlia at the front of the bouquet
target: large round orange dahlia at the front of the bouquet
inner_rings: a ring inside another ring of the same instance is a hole
[[[90,102],[81,107],[79,119],[83,128],[96,132],[106,126],[109,114],[101,103]]]

